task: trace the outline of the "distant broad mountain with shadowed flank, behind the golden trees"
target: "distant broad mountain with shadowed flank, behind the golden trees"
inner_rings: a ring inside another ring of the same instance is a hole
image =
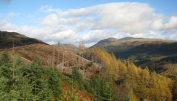
[[[150,70],[163,74],[169,74],[169,71],[174,69],[172,65],[177,63],[177,41],[173,40],[133,37],[119,40],[108,38],[99,41],[91,48],[93,47],[104,48],[110,53],[113,52],[121,60],[131,61],[142,68],[149,67]],[[169,64],[173,68],[170,68]]]

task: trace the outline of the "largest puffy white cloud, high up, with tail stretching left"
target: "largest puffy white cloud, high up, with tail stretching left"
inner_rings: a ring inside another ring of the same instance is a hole
[[[48,7],[45,11],[56,11],[56,9]],[[53,13],[44,18],[42,25],[75,23],[76,29],[81,30],[86,27],[90,29],[115,28],[122,32],[136,33],[147,29],[156,17],[153,9],[147,4],[129,2],[58,11],[59,13]],[[75,17],[78,19],[73,19]],[[92,21],[88,22],[86,17],[92,18]]]

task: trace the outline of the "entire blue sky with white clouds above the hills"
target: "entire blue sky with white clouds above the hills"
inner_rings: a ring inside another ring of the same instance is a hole
[[[177,40],[177,0],[0,0],[0,30],[48,44]]]

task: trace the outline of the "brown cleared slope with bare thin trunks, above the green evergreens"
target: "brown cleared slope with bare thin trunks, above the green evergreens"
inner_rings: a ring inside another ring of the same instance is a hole
[[[45,44],[31,44],[8,49],[8,51],[11,52],[13,50],[27,62],[38,58],[46,67],[56,66],[65,75],[70,75],[72,68],[75,66],[80,68],[80,72],[86,79],[89,79],[99,72],[99,68],[96,64],[92,64],[91,61],[61,47]],[[0,52],[3,51],[3,49],[0,50]]]

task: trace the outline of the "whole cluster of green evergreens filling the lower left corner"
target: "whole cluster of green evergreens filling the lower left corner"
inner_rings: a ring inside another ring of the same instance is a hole
[[[1,57],[0,101],[51,101],[62,93],[57,69],[43,68],[38,59],[29,65],[21,58],[12,63],[7,52]]]

